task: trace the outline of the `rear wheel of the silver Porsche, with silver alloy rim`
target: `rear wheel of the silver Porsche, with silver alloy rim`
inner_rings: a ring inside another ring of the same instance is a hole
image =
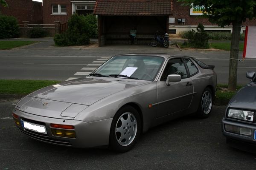
[[[212,111],[212,91],[205,88],[200,98],[197,116],[199,118],[207,118]]]

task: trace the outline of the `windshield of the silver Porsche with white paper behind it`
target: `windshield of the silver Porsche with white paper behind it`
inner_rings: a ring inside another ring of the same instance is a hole
[[[153,80],[163,60],[163,57],[155,56],[115,56],[93,72],[92,76]]]

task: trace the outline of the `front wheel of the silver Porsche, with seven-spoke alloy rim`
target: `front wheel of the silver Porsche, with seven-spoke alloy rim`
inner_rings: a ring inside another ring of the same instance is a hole
[[[113,118],[109,146],[117,152],[127,152],[136,144],[141,130],[140,115],[129,105],[121,108]]]

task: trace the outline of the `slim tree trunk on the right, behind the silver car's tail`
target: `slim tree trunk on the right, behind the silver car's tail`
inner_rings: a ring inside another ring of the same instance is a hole
[[[237,65],[239,54],[239,40],[242,21],[234,21],[232,23],[232,40],[230,48],[230,65],[228,77],[228,91],[236,91]]]

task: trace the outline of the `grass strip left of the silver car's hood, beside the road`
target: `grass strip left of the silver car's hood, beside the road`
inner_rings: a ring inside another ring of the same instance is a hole
[[[52,80],[5,80],[0,79],[0,94],[26,95],[60,81]]]

